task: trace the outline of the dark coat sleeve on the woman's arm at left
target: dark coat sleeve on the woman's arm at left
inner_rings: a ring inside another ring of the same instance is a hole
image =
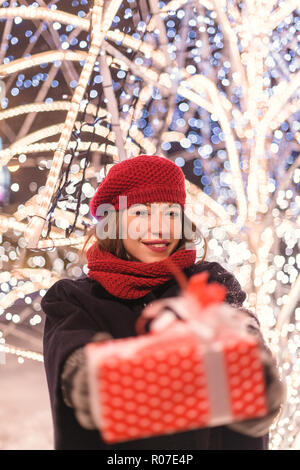
[[[41,301],[46,315],[43,352],[44,366],[53,415],[62,403],[60,377],[69,355],[90,342],[96,333],[105,331],[101,316],[97,323],[78,299],[74,281],[61,279],[54,283]],[[100,313],[100,312],[99,312]]]

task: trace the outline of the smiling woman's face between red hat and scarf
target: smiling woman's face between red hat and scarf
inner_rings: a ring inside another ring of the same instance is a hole
[[[122,214],[125,250],[134,261],[143,263],[167,258],[181,240],[181,219],[179,204],[157,202],[130,206]]]

